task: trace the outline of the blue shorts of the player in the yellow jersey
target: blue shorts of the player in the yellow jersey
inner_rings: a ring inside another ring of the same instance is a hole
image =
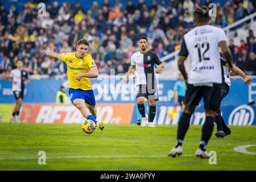
[[[96,105],[93,90],[69,88],[68,93],[69,93],[72,104],[76,98],[80,98],[80,99],[83,99],[89,105],[92,105],[92,106]]]

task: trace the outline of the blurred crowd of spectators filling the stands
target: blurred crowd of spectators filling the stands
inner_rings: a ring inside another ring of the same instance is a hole
[[[0,78],[7,78],[15,68],[15,60],[23,60],[30,75],[65,75],[63,61],[46,57],[43,49],[54,52],[72,52],[81,38],[89,41],[89,53],[100,73],[125,73],[130,56],[138,51],[137,39],[147,36],[150,49],[163,57],[180,48],[183,35],[193,27],[193,11],[200,0],[152,0],[151,6],[139,0],[135,6],[128,0],[123,6],[119,0],[110,5],[104,0],[99,6],[93,1],[90,9],[80,2],[57,1],[46,5],[46,16],[38,16],[38,1],[27,1],[18,11],[14,5],[7,10],[0,2]],[[210,0],[205,1],[209,6]],[[225,27],[255,12],[256,1],[229,0],[223,7],[217,3],[217,16],[211,24]],[[253,31],[240,45],[231,39],[229,47],[234,63],[250,75],[256,75],[256,43]]]

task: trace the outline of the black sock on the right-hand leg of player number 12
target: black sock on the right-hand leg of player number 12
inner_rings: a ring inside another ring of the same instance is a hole
[[[200,141],[200,148],[201,150],[205,151],[207,147],[207,143],[212,136],[212,131],[214,129],[214,118],[213,117],[206,117],[205,122],[202,128],[202,137]]]

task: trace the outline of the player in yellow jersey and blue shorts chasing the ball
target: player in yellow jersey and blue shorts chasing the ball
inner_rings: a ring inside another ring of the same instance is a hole
[[[89,43],[85,39],[80,39],[76,44],[76,52],[55,53],[48,48],[44,50],[47,56],[65,61],[68,67],[69,96],[71,102],[82,115],[94,121],[101,130],[104,129],[102,121],[96,121],[96,102],[90,78],[98,77],[98,69],[92,55],[89,55]],[[89,109],[89,110],[88,110]]]

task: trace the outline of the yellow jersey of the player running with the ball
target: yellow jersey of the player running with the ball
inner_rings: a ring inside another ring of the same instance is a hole
[[[83,58],[76,56],[76,53],[61,53],[60,60],[67,63],[69,88],[92,90],[90,78],[82,77],[80,81],[76,79],[79,73],[88,73],[90,68],[96,67],[92,55],[86,54]]]

